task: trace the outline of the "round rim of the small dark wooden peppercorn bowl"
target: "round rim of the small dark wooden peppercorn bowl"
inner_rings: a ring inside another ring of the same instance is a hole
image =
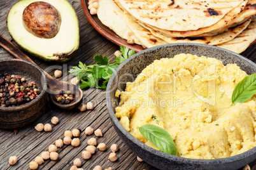
[[[27,62],[25,60],[20,60],[20,59],[6,59],[6,60],[0,60],[0,62],[20,62],[20,63],[27,63],[29,65],[32,65],[32,67],[34,67],[35,69],[38,69],[39,72],[41,73],[41,76],[43,77],[43,89],[41,90],[40,95],[35,98],[32,101],[29,101],[28,103],[25,103],[24,105],[19,105],[19,106],[15,106],[15,107],[0,107],[0,114],[1,112],[11,112],[13,110],[24,110],[25,108],[31,107],[31,105],[34,105],[34,103],[38,102],[41,97],[46,93],[46,89],[47,89],[47,79],[46,79],[46,75],[45,72],[43,72],[43,70],[36,64],[31,63],[31,62]]]

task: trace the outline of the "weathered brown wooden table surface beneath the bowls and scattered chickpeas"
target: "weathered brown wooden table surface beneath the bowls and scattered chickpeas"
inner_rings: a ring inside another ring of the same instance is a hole
[[[0,1],[0,34],[11,42],[8,29],[6,27],[6,15],[8,10],[15,1]],[[46,70],[49,74],[53,75],[55,69],[63,71],[63,76],[59,78],[62,81],[69,81],[73,78],[73,75],[67,71],[71,69],[73,65],[78,65],[79,61],[86,63],[87,65],[94,64],[93,56],[102,54],[109,56],[113,62],[113,53],[119,49],[119,46],[108,41],[101,36],[88,22],[87,18],[83,14],[80,0],[69,0],[78,16],[80,25],[80,50],[75,60],[68,64],[54,64],[46,63],[31,57],[39,67]],[[241,55],[246,56],[253,62],[256,62],[256,45],[247,49]],[[0,59],[14,58],[6,50],[0,47]],[[59,159],[57,161],[46,160],[45,163],[39,166],[38,169],[69,169],[73,165],[73,160],[80,158],[82,160],[83,169],[93,169],[95,166],[100,165],[103,169],[112,167],[112,169],[155,169],[154,167],[146,164],[145,162],[138,162],[136,155],[134,155],[129,148],[120,140],[115,129],[113,128],[108,112],[106,109],[105,91],[99,89],[87,89],[83,91],[83,101],[92,101],[94,103],[94,110],[87,110],[86,112],[80,112],[75,109],[72,111],[64,111],[55,107],[50,103],[48,98],[47,106],[44,114],[38,119],[38,121],[26,126],[22,129],[18,129],[18,134],[15,134],[12,130],[0,129],[0,169],[29,169],[29,162],[41,154],[41,152],[48,150],[50,144],[55,143],[55,140],[64,138],[64,131],[75,128],[82,129],[80,135],[81,144],[79,147],[71,147],[71,145],[64,145],[62,148],[58,148]],[[46,124],[50,122],[51,117],[59,117],[59,124],[53,126],[50,132],[38,132],[34,129],[36,124]],[[85,128],[91,126],[94,129],[100,128],[103,131],[103,137],[97,137],[97,142],[104,142],[107,145],[107,150],[104,152],[97,151],[92,155],[89,160],[82,159],[82,151],[87,146],[87,140],[90,137],[94,137],[94,134],[87,136],[84,133]],[[116,162],[110,162],[108,155],[110,154],[110,146],[113,143],[117,143],[120,150],[117,152],[118,160]],[[17,155],[18,162],[15,166],[8,164],[8,159],[11,155]]]

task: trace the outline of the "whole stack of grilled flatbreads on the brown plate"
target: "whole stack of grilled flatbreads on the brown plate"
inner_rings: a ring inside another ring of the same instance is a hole
[[[143,48],[175,42],[215,45],[236,53],[256,39],[256,0],[99,0],[97,16]]]

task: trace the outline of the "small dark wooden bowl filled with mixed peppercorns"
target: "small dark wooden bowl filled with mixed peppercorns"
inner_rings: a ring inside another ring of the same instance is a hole
[[[24,60],[0,60],[0,129],[36,121],[45,110],[46,75]]]

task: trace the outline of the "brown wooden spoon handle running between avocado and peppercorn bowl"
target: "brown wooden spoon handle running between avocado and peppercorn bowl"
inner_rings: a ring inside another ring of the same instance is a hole
[[[13,43],[11,43],[11,41],[9,41],[8,39],[6,39],[1,35],[0,35],[0,46],[2,46],[4,49],[6,49],[6,51],[11,53],[11,55],[15,56],[15,58],[34,63],[33,60],[29,58],[29,56],[25,55],[22,51],[20,51],[20,49],[18,49]],[[43,72],[45,72],[45,70],[43,70]],[[45,74],[48,80],[48,85],[54,86],[55,84],[57,84],[56,80],[50,74],[48,74],[47,72],[45,72]]]

